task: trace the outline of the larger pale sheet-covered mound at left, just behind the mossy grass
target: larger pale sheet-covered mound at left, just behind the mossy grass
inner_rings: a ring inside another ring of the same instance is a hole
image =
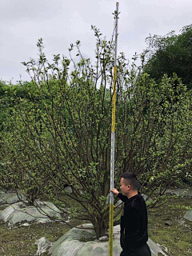
[[[9,226],[14,226],[18,222],[44,223],[51,222],[51,218],[61,219],[62,217],[52,202],[39,202],[37,206],[26,206],[25,202],[16,202],[2,210],[0,218],[4,222],[9,222]]]

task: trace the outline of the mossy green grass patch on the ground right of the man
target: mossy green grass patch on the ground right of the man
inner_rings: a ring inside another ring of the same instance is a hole
[[[188,207],[191,199],[171,197],[158,210],[149,210],[149,237],[171,256],[192,255],[192,222],[183,218]]]

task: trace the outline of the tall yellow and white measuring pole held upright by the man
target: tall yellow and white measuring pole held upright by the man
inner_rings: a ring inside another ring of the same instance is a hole
[[[116,103],[116,78],[117,78],[117,49],[118,49],[118,2],[116,4],[115,21],[115,48],[114,48],[114,85],[113,85],[113,108],[111,126],[111,150],[110,150],[110,189],[114,189],[114,125],[115,125],[115,103]],[[113,256],[114,233],[114,193],[110,192],[110,226],[109,226],[109,256]]]

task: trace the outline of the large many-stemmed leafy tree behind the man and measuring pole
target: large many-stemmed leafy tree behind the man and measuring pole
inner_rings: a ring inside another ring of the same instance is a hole
[[[2,140],[2,158],[16,189],[38,186],[60,210],[93,223],[101,237],[109,223],[114,41],[107,42],[92,28],[97,38],[95,66],[82,57],[79,41],[79,62],[54,55],[49,63],[42,39],[38,62],[23,62],[33,89],[25,88],[30,100],[18,99]],[[117,69],[114,186],[122,172],[134,171],[141,192],[153,199],[149,206],[155,207],[167,187],[190,178],[190,151],[184,155],[191,141],[190,94],[176,75],[164,76],[157,84],[134,63],[129,66],[122,53]],[[66,184],[72,194],[64,190]],[[115,209],[114,218],[121,210]]]

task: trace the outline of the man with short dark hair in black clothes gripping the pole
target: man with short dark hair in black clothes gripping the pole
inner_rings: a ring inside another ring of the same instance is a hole
[[[121,175],[120,190],[110,190],[124,202],[121,217],[120,256],[151,256],[147,245],[147,211],[146,202],[138,192],[138,181],[134,173]]]

